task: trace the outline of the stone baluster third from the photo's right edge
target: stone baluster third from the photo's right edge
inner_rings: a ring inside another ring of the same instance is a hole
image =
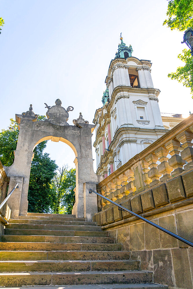
[[[158,171],[163,174],[163,177],[160,178],[160,181],[165,181],[166,179],[171,178],[171,171],[173,168],[168,163],[167,155],[169,153],[169,150],[165,147],[159,147],[159,149],[155,150],[155,155],[159,157],[159,161],[161,164],[157,166]]]

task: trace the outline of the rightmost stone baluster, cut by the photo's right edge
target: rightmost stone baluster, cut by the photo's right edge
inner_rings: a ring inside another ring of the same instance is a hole
[[[193,143],[191,142],[193,139],[193,133],[190,130],[186,130],[176,138],[182,143],[181,146],[184,148],[184,150],[181,151],[181,157],[183,160],[188,162],[188,164],[185,164],[184,169],[188,170],[189,168],[193,168]]]

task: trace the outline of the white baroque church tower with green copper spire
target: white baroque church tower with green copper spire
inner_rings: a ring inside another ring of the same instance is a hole
[[[150,60],[132,56],[123,38],[106,76],[102,108],[95,112],[98,175],[107,177],[166,133],[153,87]]]

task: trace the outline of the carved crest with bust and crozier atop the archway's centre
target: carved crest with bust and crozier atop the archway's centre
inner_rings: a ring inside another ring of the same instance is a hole
[[[49,123],[52,123],[53,125],[69,125],[67,123],[69,114],[69,111],[72,111],[74,108],[72,106],[69,106],[66,110],[61,106],[62,101],[60,99],[56,99],[55,101],[56,105],[53,105],[52,107],[48,106],[46,103],[46,107],[48,110],[46,112],[46,116],[48,119],[45,121],[48,121]],[[70,109],[71,108],[71,109]]]

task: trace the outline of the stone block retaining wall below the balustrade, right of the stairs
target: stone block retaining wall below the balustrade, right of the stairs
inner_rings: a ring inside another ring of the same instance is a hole
[[[120,204],[193,242],[193,170],[152,186]],[[118,200],[116,201],[118,202]],[[123,250],[154,272],[154,281],[170,288],[192,289],[193,248],[111,205],[93,217]]]

